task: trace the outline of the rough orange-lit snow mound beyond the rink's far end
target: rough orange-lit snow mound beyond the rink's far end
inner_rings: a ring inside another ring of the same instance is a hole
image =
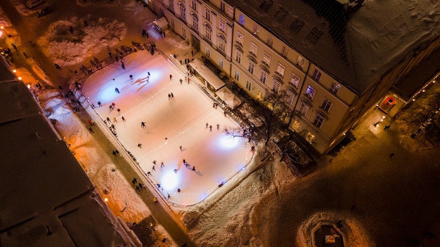
[[[116,46],[127,34],[124,22],[109,18],[70,18],[51,23],[37,44],[61,67],[77,65],[85,58]]]

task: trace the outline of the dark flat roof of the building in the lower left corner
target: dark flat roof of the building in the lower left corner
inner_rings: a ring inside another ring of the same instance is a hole
[[[0,68],[1,245],[132,244],[34,95]]]

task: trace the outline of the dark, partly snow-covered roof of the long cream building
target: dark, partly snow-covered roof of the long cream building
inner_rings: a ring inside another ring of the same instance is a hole
[[[438,1],[226,1],[358,93],[440,30]]]

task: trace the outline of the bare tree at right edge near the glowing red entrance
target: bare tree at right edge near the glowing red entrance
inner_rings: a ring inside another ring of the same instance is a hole
[[[415,107],[415,112],[411,112],[405,120],[418,126],[417,130],[411,134],[411,138],[423,133],[428,142],[438,145],[440,142],[440,92],[433,93],[427,98],[425,104]]]

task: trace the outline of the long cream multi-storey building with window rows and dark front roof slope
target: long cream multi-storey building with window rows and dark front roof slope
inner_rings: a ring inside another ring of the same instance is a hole
[[[174,32],[252,98],[285,93],[283,120],[321,154],[371,107],[390,100],[399,78],[439,47],[434,41],[365,76],[357,72],[358,58],[350,58],[349,13],[337,1],[150,1]]]

